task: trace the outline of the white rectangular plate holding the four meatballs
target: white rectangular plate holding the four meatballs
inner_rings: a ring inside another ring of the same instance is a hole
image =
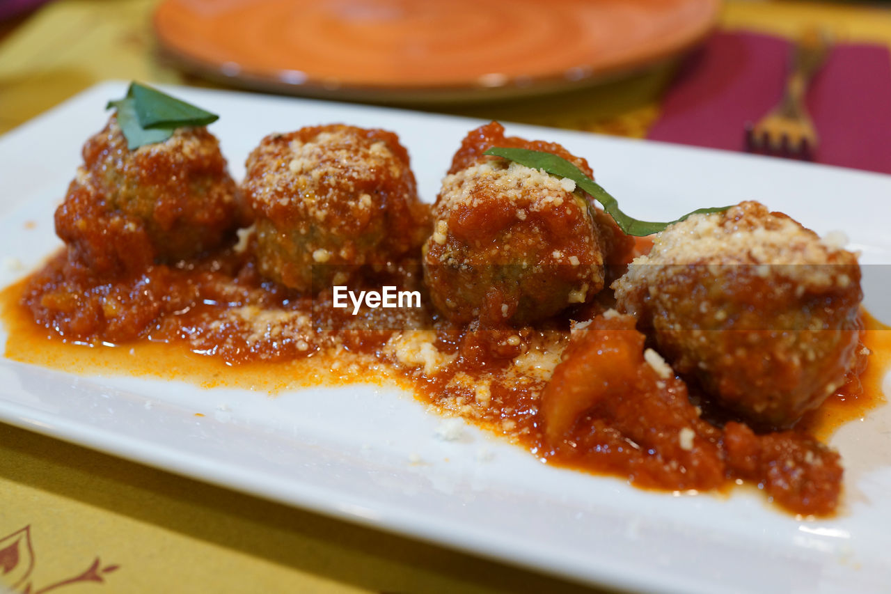
[[[125,88],[117,82],[93,87],[0,139],[0,257],[32,269],[60,246],[53,209],[78,166],[81,145],[108,117],[105,102]],[[262,136],[345,122],[396,131],[427,201],[462,136],[481,123],[343,103],[169,91],[222,116],[211,129],[236,178]],[[820,233],[844,230],[864,264],[891,263],[889,176],[566,130],[511,125],[508,132],[560,142],[586,157],[629,214],[673,219],[702,206],[756,199]],[[37,221],[37,228],[26,229],[26,221]],[[874,274],[884,267],[864,268],[868,307],[891,321],[887,285]],[[5,285],[23,273],[0,274]],[[846,464],[844,509],[815,521],[783,514],[759,493],[673,496],[545,466],[470,426],[461,440],[440,441],[442,419],[396,389],[319,388],[269,398],[67,375],[3,359],[0,419],[583,582],[684,592],[878,591],[891,583],[891,408],[884,406],[832,439]]]

